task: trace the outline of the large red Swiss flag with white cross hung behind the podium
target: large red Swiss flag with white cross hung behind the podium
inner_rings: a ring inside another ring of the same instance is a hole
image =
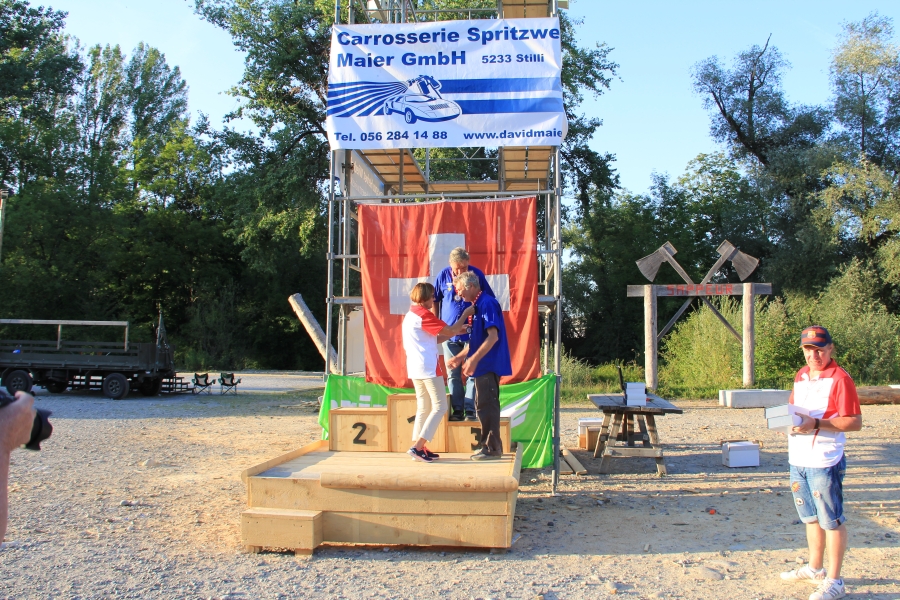
[[[536,211],[534,197],[361,204],[366,381],[412,387],[401,333],[409,292],[434,283],[456,246],[469,251],[503,307],[513,374],[502,383],[540,377]]]

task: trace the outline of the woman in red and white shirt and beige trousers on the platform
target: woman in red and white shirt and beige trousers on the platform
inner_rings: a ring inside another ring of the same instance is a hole
[[[409,293],[412,301],[403,317],[403,349],[406,351],[406,374],[416,390],[416,420],[413,424],[414,445],[407,451],[413,460],[432,462],[438,455],[425,447],[434,438],[441,419],[447,412],[447,391],[443,373],[438,373],[438,344],[466,331],[474,307],[463,311],[459,320],[447,325],[438,319],[434,308],[434,286],[417,283]]]

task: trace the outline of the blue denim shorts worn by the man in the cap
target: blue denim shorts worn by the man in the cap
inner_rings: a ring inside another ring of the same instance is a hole
[[[844,517],[844,473],[847,458],[832,467],[817,469],[791,465],[791,493],[804,523],[819,521],[822,529],[837,529]]]

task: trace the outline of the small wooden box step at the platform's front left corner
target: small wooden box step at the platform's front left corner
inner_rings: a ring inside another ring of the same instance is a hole
[[[312,554],[322,543],[322,512],[286,508],[248,508],[241,513],[241,543],[248,552],[287,548]]]

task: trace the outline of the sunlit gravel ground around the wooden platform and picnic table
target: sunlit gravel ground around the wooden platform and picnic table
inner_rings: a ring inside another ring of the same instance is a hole
[[[16,451],[0,551],[7,598],[806,598],[778,572],[806,554],[784,438],[762,411],[683,403],[658,419],[670,475],[622,459],[597,475],[523,471],[518,539],[504,554],[331,546],[243,554],[242,469],[320,436],[320,389],[111,401],[46,396],[53,437]],[[563,410],[564,442],[588,406]],[[863,407],[845,480],[853,598],[900,598],[900,406]],[[763,442],[762,466],[726,469],[719,440]],[[710,514],[709,509],[715,509]]]

